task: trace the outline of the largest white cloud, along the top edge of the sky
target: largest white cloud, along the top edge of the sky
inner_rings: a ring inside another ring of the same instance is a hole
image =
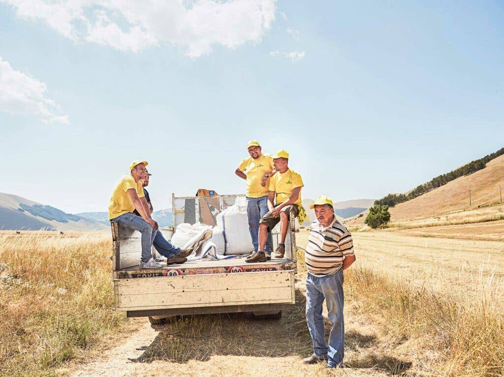
[[[191,57],[220,44],[259,43],[275,20],[276,0],[0,0],[19,17],[41,20],[75,42],[121,51],[171,44]]]

